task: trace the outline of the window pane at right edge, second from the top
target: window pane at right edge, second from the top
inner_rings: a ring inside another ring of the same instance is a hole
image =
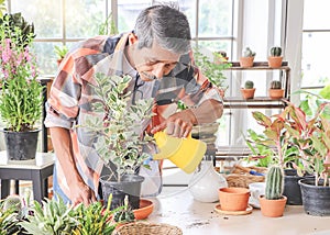
[[[324,46],[329,42],[330,32],[302,34],[301,87],[323,86],[330,81],[330,47]]]

